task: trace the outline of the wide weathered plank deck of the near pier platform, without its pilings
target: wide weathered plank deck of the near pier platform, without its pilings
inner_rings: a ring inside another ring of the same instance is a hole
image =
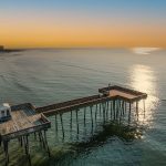
[[[31,104],[21,104],[11,107],[11,120],[0,123],[0,136],[12,139],[48,127],[50,122],[43,114],[37,114]]]

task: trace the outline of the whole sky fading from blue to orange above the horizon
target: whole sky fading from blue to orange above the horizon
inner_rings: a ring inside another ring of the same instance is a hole
[[[7,48],[166,48],[166,0],[0,0]]]

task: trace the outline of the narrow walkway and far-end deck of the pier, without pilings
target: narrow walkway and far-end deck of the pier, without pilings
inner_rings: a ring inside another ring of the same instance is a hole
[[[128,103],[133,103],[147,97],[146,93],[121,87],[117,85],[100,89],[98,92],[102,93],[102,95],[100,94],[92,95],[92,96],[81,97],[77,100],[72,100],[63,103],[56,103],[52,105],[37,107],[35,111],[38,113],[43,113],[45,116],[51,116],[54,114],[63,114],[72,110],[77,110],[84,106],[102,103],[105,101],[116,100],[116,98],[121,98]]]

